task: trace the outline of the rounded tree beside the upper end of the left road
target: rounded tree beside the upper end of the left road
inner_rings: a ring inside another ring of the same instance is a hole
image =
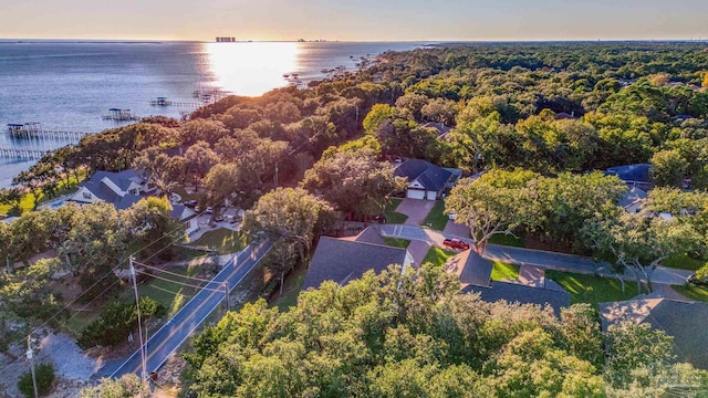
[[[277,188],[246,212],[243,231],[273,243],[267,264],[280,276],[281,294],[285,274],[305,259],[331,211],[329,203],[304,189]]]

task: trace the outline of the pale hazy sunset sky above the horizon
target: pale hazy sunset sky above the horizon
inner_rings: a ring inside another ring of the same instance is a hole
[[[0,39],[708,39],[706,0],[0,0]]]

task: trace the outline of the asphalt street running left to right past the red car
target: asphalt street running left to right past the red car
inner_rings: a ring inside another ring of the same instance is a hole
[[[403,224],[381,226],[381,233],[385,237],[426,241],[438,247],[442,247],[442,240],[445,240],[445,238],[460,238],[469,242],[469,238],[467,237],[456,237],[427,228]],[[616,276],[608,263],[598,263],[591,258],[580,255],[488,244],[483,256],[489,260],[521,265],[533,265],[548,270],[559,270],[582,274],[598,274],[612,277]],[[652,274],[652,282],[662,284],[684,284],[686,283],[686,277],[691,274],[693,272],[686,270],[658,266]],[[636,276],[631,271],[625,272],[623,276],[627,281],[636,280]]]

